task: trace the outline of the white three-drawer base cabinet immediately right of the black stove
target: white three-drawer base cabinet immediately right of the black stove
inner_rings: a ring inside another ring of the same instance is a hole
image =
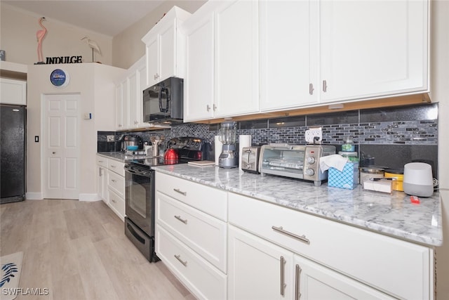
[[[156,172],[156,254],[198,299],[227,299],[227,193]]]

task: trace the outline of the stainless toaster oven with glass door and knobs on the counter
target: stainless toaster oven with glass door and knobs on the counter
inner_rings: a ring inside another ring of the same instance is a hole
[[[328,178],[321,172],[320,159],[335,154],[333,145],[263,145],[260,150],[259,171],[262,176],[272,174],[314,181],[316,186]]]

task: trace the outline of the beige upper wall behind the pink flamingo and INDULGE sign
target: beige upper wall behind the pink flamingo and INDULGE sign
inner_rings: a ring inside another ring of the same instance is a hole
[[[6,51],[6,60],[12,63],[32,65],[37,62],[36,32],[40,30],[41,15],[22,11],[0,2],[0,48]],[[51,18],[43,22],[47,34],[42,41],[42,53],[46,57],[82,56],[83,63],[92,62],[92,49],[86,41],[88,36],[100,47],[101,55],[94,53],[95,61],[112,65],[112,37],[73,27]]]

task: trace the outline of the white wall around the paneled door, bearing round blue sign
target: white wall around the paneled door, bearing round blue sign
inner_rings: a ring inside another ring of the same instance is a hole
[[[70,76],[70,83],[64,88],[56,88],[49,80],[56,68],[65,70]],[[95,200],[97,131],[114,131],[115,124],[115,84],[125,70],[100,65],[83,63],[72,65],[29,65],[27,86],[27,198],[42,197],[41,149],[42,143],[34,143],[34,136],[40,140],[46,133],[41,125],[41,99],[49,93],[80,93],[80,200]],[[85,112],[93,118],[82,119]]]

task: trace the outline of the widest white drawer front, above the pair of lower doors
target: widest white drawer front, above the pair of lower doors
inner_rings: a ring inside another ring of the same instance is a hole
[[[427,247],[233,193],[229,223],[393,296],[432,298],[433,252]]]

